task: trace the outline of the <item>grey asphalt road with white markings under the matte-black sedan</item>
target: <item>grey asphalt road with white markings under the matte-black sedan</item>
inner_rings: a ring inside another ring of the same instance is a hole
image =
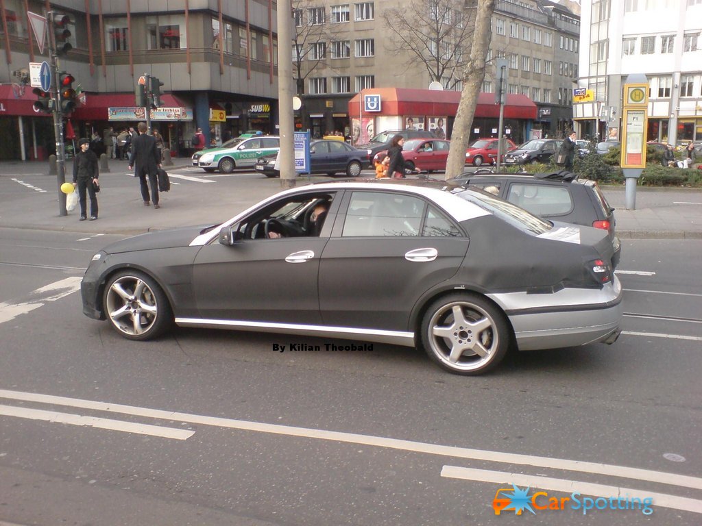
[[[543,525],[700,523],[702,241],[623,241],[616,344],[458,377],[381,344],[185,329],[128,342],[72,292],[117,238],[0,229],[0,521],[498,525],[529,520],[493,510],[516,480],[558,502],[654,495],[651,515],[565,501],[536,510]]]

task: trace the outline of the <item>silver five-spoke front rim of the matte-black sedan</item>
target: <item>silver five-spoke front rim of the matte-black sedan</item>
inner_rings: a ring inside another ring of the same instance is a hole
[[[147,337],[159,321],[159,302],[140,276],[120,276],[105,292],[105,315],[126,337]]]

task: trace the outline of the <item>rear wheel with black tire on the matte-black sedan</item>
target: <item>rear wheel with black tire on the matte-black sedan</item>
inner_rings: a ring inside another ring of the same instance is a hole
[[[457,375],[481,375],[505,357],[510,329],[505,314],[484,297],[454,293],[429,306],[421,342],[439,367]]]

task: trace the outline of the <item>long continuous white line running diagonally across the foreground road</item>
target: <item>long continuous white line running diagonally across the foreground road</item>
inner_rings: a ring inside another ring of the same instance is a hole
[[[26,402],[38,402],[53,405],[67,405],[69,407],[81,407],[83,409],[91,409],[98,411],[118,412],[121,414],[131,414],[140,417],[152,417],[157,419],[187,422],[189,424],[216,426],[225,429],[238,429],[241,431],[258,431],[260,433],[273,433],[284,436],[314,438],[317,440],[332,440],[335,442],[369,445],[373,447],[387,447],[393,450],[433,454],[443,457],[456,457],[461,459],[502,462],[505,464],[536,466],[540,468],[580,471],[582,473],[594,473],[597,475],[604,476],[633,478],[637,480],[647,480],[649,482],[659,484],[690,487],[695,490],[702,490],[702,478],[681,475],[679,473],[665,473],[663,471],[653,471],[642,468],[630,468],[628,466],[600,464],[598,462],[587,462],[569,459],[552,459],[549,457],[536,457],[527,454],[507,453],[489,450],[475,450],[470,449],[468,447],[428,444],[423,442],[415,442],[413,440],[402,440],[398,438],[386,438],[382,436],[372,435],[360,435],[357,433],[345,433],[342,431],[327,431],[325,429],[310,429],[305,427],[284,426],[281,424],[265,424],[262,422],[249,422],[246,420],[228,419],[223,417],[207,417],[201,414],[189,414],[174,411],[150,409],[148,407],[136,407],[133,405],[95,402],[93,400],[81,400],[79,398],[66,398],[63,396],[44,395],[39,393],[8,391],[6,389],[0,389],[0,398],[10,398],[12,400],[24,400]]]

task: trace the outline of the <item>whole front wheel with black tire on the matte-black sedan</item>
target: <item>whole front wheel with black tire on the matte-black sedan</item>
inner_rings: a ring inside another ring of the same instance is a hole
[[[166,294],[140,271],[114,274],[105,284],[102,307],[110,326],[126,339],[155,338],[173,322]]]

